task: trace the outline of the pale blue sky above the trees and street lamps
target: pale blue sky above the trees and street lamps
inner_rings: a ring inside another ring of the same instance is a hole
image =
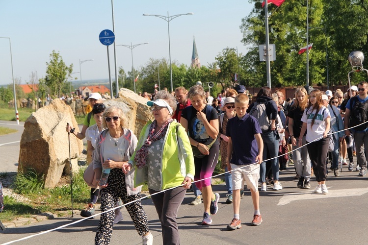
[[[136,69],[149,58],[169,59],[167,22],[142,15],[193,12],[170,22],[171,59],[190,65],[195,36],[201,64],[208,65],[226,47],[246,53],[239,25],[252,7],[244,0],[114,0],[115,42],[149,43],[133,49]],[[11,38],[14,77],[22,84],[32,72],[46,75],[53,49],[73,63],[73,72],[79,72],[79,59],[93,59],[81,65],[83,80],[108,78],[106,47],[98,39],[104,29],[112,30],[111,0],[0,0],[0,37]],[[109,51],[114,74],[113,46]],[[131,50],[117,46],[116,52],[118,67],[130,70]],[[9,40],[0,39],[0,84],[10,83]]]

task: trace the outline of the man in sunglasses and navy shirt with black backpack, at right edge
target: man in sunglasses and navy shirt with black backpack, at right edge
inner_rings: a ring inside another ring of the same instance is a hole
[[[355,145],[357,148],[357,162],[361,168],[359,176],[367,174],[367,159],[365,151],[368,152],[368,145],[364,144],[368,137],[367,112],[368,112],[368,83],[363,81],[358,85],[358,96],[352,97],[347,101],[345,108],[344,129],[346,136],[350,135],[351,129]],[[363,115],[363,116],[362,116]],[[359,125],[361,123],[365,123]]]

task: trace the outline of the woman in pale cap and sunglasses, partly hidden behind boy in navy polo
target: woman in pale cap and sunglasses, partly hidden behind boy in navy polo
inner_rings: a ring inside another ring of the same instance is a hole
[[[225,111],[220,115],[219,120],[219,135],[220,135],[220,153],[221,153],[221,168],[225,170],[225,184],[228,196],[226,203],[233,202],[233,182],[231,179],[231,172],[228,172],[228,141],[229,138],[226,136],[226,127],[229,119],[235,117],[235,100],[232,97],[225,98],[224,106],[221,107],[222,111]]]

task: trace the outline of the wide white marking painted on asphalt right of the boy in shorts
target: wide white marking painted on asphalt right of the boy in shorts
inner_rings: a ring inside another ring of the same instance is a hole
[[[342,196],[362,196],[363,194],[366,193],[368,193],[368,188],[329,190],[327,195],[314,193],[313,191],[296,192],[285,194],[283,197],[281,197],[277,205],[278,206],[286,205],[296,200],[319,199],[319,198],[342,197]]]

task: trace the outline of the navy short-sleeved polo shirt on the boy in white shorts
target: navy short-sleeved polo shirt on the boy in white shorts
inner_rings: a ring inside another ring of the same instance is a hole
[[[256,162],[259,154],[255,134],[262,134],[262,129],[258,120],[249,114],[238,118],[230,119],[226,136],[231,137],[233,143],[233,154],[230,163],[236,165],[248,165]]]

